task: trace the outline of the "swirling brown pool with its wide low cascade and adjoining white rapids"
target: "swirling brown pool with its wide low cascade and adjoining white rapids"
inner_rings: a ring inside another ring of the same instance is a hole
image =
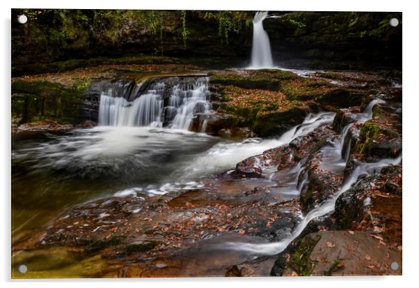
[[[104,91],[102,126],[13,143],[15,239],[44,224],[57,211],[92,199],[199,188],[202,176],[232,169],[245,158],[331,122],[334,116],[330,112],[309,115],[276,139],[232,142],[187,130],[194,114],[211,109],[206,79],[176,84],[168,93],[167,104],[162,100],[163,87],[157,83],[131,103]],[[164,121],[168,107],[175,109],[174,115],[171,121]]]

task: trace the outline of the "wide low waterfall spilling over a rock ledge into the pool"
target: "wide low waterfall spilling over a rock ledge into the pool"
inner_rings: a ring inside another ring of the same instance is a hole
[[[102,91],[100,126],[151,126],[188,130],[197,114],[212,111],[207,100],[210,92],[206,77],[161,79],[152,84],[148,91],[134,97],[121,95],[128,92],[116,88]],[[127,98],[134,100],[129,101]],[[205,123],[199,123],[202,132],[205,132],[205,126]]]

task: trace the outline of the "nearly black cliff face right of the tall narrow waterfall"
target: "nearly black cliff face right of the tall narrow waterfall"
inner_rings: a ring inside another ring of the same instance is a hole
[[[390,25],[393,17],[399,25]],[[402,13],[290,12],[268,18],[264,27],[279,62],[305,59],[312,68],[402,66]]]

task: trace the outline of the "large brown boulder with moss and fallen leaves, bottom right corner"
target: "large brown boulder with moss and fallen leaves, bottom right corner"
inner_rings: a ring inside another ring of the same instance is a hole
[[[393,264],[395,263],[395,264]],[[283,276],[401,275],[402,253],[367,232],[331,231],[305,236]]]

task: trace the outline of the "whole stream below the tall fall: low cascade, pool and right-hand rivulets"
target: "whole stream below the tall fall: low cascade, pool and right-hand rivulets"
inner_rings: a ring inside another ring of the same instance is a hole
[[[106,197],[147,199],[167,193],[182,193],[184,198],[173,199],[172,205],[182,205],[182,201],[188,201],[188,197],[193,199],[196,197],[193,195],[199,196],[203,191],[209,194],[196,203],[205,204],[205,199],[212,199],[214,191],[219,191],[215,193],[219,193],[223,201],[236,204],[257,199],[268,199],[271,204],[278,204],[298,199],[308,182],[304,174],[307,172],[303,169],[306,158],[301,159],[298,165],[280,171],[265,162],[262,179],[226,180],[225,177],[235,172],[237,163],[254,158],[253,165],[258,167],[260,162],[255,156],[290,144],[297,137],[332,123],[334,112],[308,114],[301,124],[280,137],[222,139],[205,133],[206,123],[203,121],[198,123],[200,132],[189,130],[196,119],[201,119],[197,115],[214,113],[208,79],[187,77],[175,81],[178,83],[170,86],[168,83],[173,82],[173,78],[161,79],[142,93],[134,91],[137,93],[134,96],[127,95],[124,89],[107,87],[100,96],[98,126],[72,130],[64,135],[47,133],[22,138],[14,143],[13,243],[37,232],[58,213]],[[372,100],[363,112],[354,114],[356,123],[371,119],[372,108],[377,103],[384,103],[384,100]],[[353,125],[349,123],[342,129],[340,137],[321,148],[320,165],[327,171],[344,174],[351,145],[349,142],[345,151],[344,139]],[[229,259],[242,262],[277,255],[303,232],[311,220],[331,213],[336,199],[357,181],[358,176],[377,172],[387,165],[397,165],[401,160],[402,156],[360,163],[345,177],[345,182],[332,197],[320,202],[308,213],[293,211],[295,224],[290,229],[281,228],[283,232],[275,241],[269,243],[260,237],[225,235],[206,239],[201,244],[204,248],[196,248],[198,250],[191,250],[190,253],[197,253],[195,262],[202,257],[215,257],[214,261],[220,263],[217,268],[220,271],[230,264]],[[220,175],[226,176],[218,179]],[[255,191],[258,187],[269,188],[269,196],[246,198],[237,194]],[[213,255],[214,252],[218,256]],[[188,259],[188,254],[181,254],[179,259],[172,261],[187,265]],[[211,265],[201,267],[193,263],[190,269],[193,273],[200,273],[198,275],[207,275],[212,269]],[[173,273],[189,275],[188,270]]]

